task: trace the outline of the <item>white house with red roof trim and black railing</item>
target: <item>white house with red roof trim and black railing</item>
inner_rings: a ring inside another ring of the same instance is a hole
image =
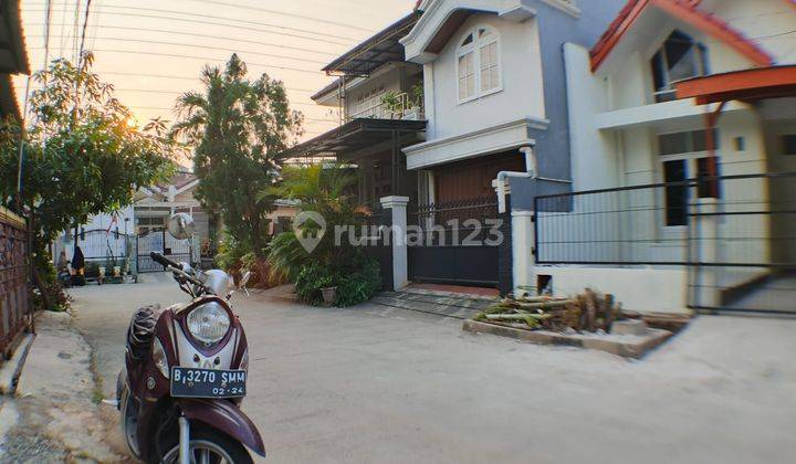
[[[796,171],[794,30],[788,0],[632,0],[595,48],[566,44],[576,193],[537,199],[521,278],[662,312],[776,281],[747,307],[787,306],[796,178],[772,173]]]

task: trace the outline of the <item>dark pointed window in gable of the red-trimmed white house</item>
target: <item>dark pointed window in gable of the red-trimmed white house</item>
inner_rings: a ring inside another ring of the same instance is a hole
[[[674,31],[652,56],[656,102],[674,99],[674,84],[709,74],[708,49],[690,35]]]

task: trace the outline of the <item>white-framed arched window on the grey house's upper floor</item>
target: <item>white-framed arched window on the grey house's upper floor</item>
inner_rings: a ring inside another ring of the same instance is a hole
[[[460,103],[502,88],[500,36],[492,28],[479,25],[469,31],[459,44],[457,63]]]

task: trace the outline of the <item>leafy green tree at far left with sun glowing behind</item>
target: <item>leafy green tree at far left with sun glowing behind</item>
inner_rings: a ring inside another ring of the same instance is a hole
[[[0,203],[32,213],[39,267],[46,265],[44,247],[59,232],[129,204],[138,187],[165,179],[172,169],[166,125],[154,120],[134,127],[113,85],[91,71],[93,62],[86,52],[77,65],[59,59],[36,73],[31,127],[22,130],[7,120],[8,130],[0,130]]]

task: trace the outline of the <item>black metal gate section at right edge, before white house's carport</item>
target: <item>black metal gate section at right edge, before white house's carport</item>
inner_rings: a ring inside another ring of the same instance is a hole
[[[722,198],[689,210],[689,304],[796,314],[796,173],[721,178]]]

